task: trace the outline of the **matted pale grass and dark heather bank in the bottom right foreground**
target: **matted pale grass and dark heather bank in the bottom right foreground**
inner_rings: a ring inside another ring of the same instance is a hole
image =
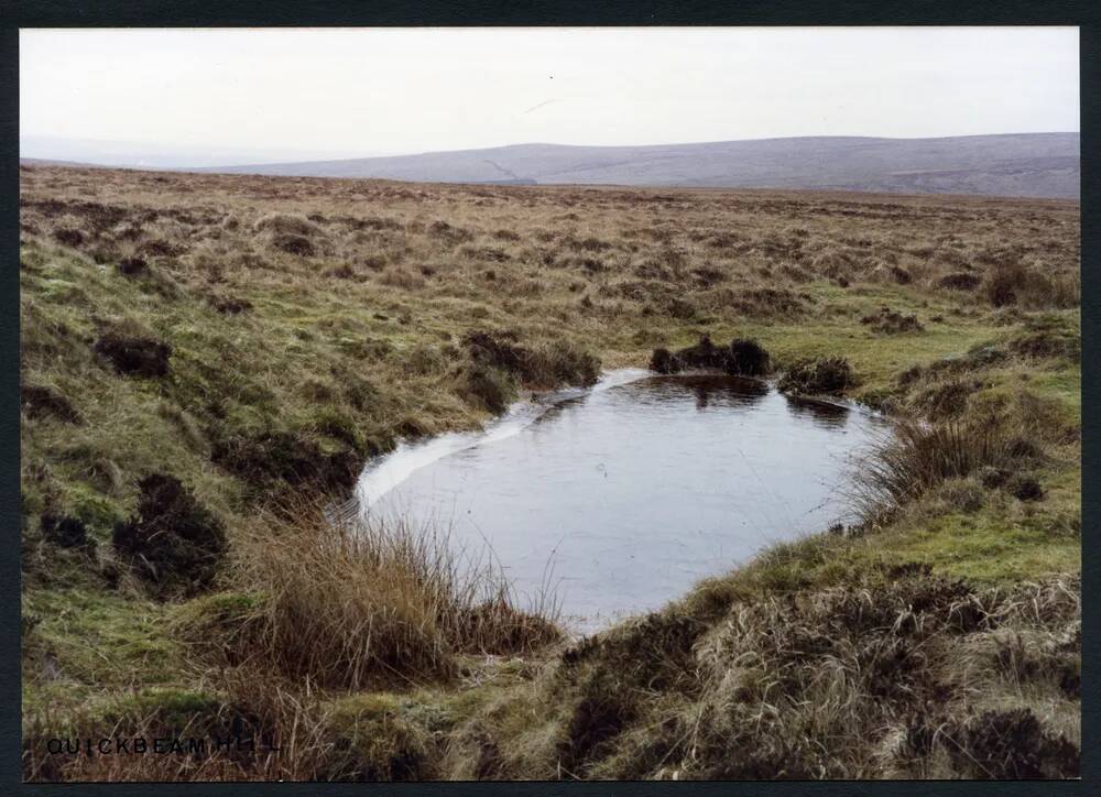
[[[567,649],[453,735],[451,761],[502,778],[1077,777],[1078,587],[901,568],[735,598],[718,620],[673,607]],[[510,732],[534,711],[538,734]]]

